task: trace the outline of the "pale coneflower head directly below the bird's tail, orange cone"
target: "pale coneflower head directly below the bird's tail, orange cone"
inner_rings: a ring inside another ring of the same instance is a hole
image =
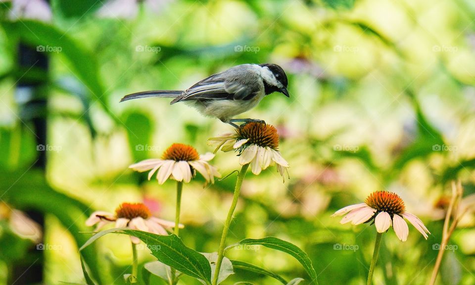
[[[148,180],[157,172],[159,184],[163,184],[168,178],[177,181],[190,182],[196,171],[203,175],[206,182],[214,183],[214,177],[221,177],[218,169],[208,163],[214,158],[214,154],[206,153],[199,155],[189,145],[172,144],[162,156],[162,159],[147,159],[131,165],[129,168],[135,171],[149,171]]]

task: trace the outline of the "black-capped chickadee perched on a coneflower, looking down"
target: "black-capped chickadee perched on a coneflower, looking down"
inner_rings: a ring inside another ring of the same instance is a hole
[[[287,92],[287,76],[277,64],[241,64],[213,74],[185,91],[156,90],[129,94],[120,102],[144,98],[175,98],[170,105],[184,101],[198,112],[217,117],[225,123],[238,127],[233,122],[261,121],[256,119],[233,119],[233,116],[254,108],[264,96]]]

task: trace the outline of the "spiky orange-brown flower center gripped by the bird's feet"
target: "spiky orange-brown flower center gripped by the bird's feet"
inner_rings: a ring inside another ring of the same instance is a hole
[[[250,122],[236,129],[238,139],[249,139],[248,144],[261,147],[270,147],[277,150],[279,147],[279,134],[273,125]]]

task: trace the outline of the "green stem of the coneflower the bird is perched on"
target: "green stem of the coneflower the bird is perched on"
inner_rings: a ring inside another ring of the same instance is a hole
[[[224,248],[226,246],[226,237],[228,236],[229,226],[231,225],[231,220],[233,220],[234,210],[236,209],[236,205],[238,204],[239,193],[241,192],[241,185],[242,181],[244,180],[244,176],[246,175],[247,168],[249,164],[243,165],[241,167],[241,171],[238,174],[238,180],[236,180],[236,187],[234,188],[234,197],[233,202],[231,203],[231,208],[229,208],[228,217],[226,218],[226,222],[224,223],[223,233],[221,235],[221,242],[219,243],[219,250],[218,250],[218,260],[216,261],[216,269],[213,278],[213,285],[218,285],[218,276],[219,271],[221,269],[221,263],[223,262],[224,258]]]

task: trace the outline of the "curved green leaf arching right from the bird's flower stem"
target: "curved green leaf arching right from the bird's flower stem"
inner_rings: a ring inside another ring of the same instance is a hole
[[[268,237],[259,238],[259,239],[246,238],[239,241],[238,244],[241,244],[241,245],[259,244],[265,247],[277,249],[282,252],[288,253],[291,256],[293,256],[295,259],[297,259],[297,261],[300,262],[300,264],[305,268],[305,271],[307,271],[307,274],[310,276],[311,281],[315,282],[315,284],[318,284],[317,273],[315,272],[315,269],[312,266],[312,261],[310,260],[308,255],[303,250],[298,248],[296,245],[274,236],[268,236]],[[228,246],[226,250],[229,250],[233,248],[234,246],[235,245]]]

